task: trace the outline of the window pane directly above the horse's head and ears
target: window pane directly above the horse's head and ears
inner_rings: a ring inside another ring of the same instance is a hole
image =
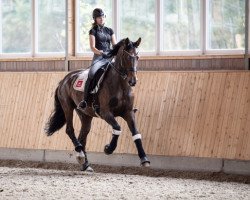
[[[142,38],[142,52],[156,51],[155,0],[120,1],[120,36],[136,41]]]

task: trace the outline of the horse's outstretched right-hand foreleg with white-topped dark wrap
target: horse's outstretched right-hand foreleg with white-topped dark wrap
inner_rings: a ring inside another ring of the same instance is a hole
[[[132,133],[132,138],[134,140],[134,143],[138,151],[138,156],[141,159],[141,165],[145,167],[150,166],[150,161],[148,160],[146,153],[142,146],[141,134],[138,132],[136,128],[134,111],[126,113],[123,118],[127,122],[128,127]]]

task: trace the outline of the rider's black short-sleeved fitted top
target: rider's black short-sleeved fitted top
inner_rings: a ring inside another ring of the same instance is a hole
[[[106,26],[94,26],[90,31],[90,35],[95,36],[95,48],[103,52],[110,50],[111,36],[114,31]]]

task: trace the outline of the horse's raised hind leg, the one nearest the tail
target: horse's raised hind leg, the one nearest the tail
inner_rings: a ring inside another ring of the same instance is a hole
[[[60,99],[61,100],[61,99]],[[61,100],[61,105],[65,114],[66,119],[66,133],[71,139],[72,143],[75,146],[75,151],[81,152],[83,150],[83,147],[81,143],[77,140],[75,136],[75,131],[73,127],[73,110],[74,107],[71,104],[70,101],[64,101],[65,99]]]

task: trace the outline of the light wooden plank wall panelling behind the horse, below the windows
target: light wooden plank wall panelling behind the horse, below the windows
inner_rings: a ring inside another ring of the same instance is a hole
[[[0,147],[72,150],[65,127],[43,128],[64,72],[0,73]],[[148,154],[250,160],[250,72],[140,72],[137,124]],[[135,154],[126,124],[116,153]],[[79,132],[79,120],[74,120]],[[111,128],[95,119],[88,151],[102,152]]]

